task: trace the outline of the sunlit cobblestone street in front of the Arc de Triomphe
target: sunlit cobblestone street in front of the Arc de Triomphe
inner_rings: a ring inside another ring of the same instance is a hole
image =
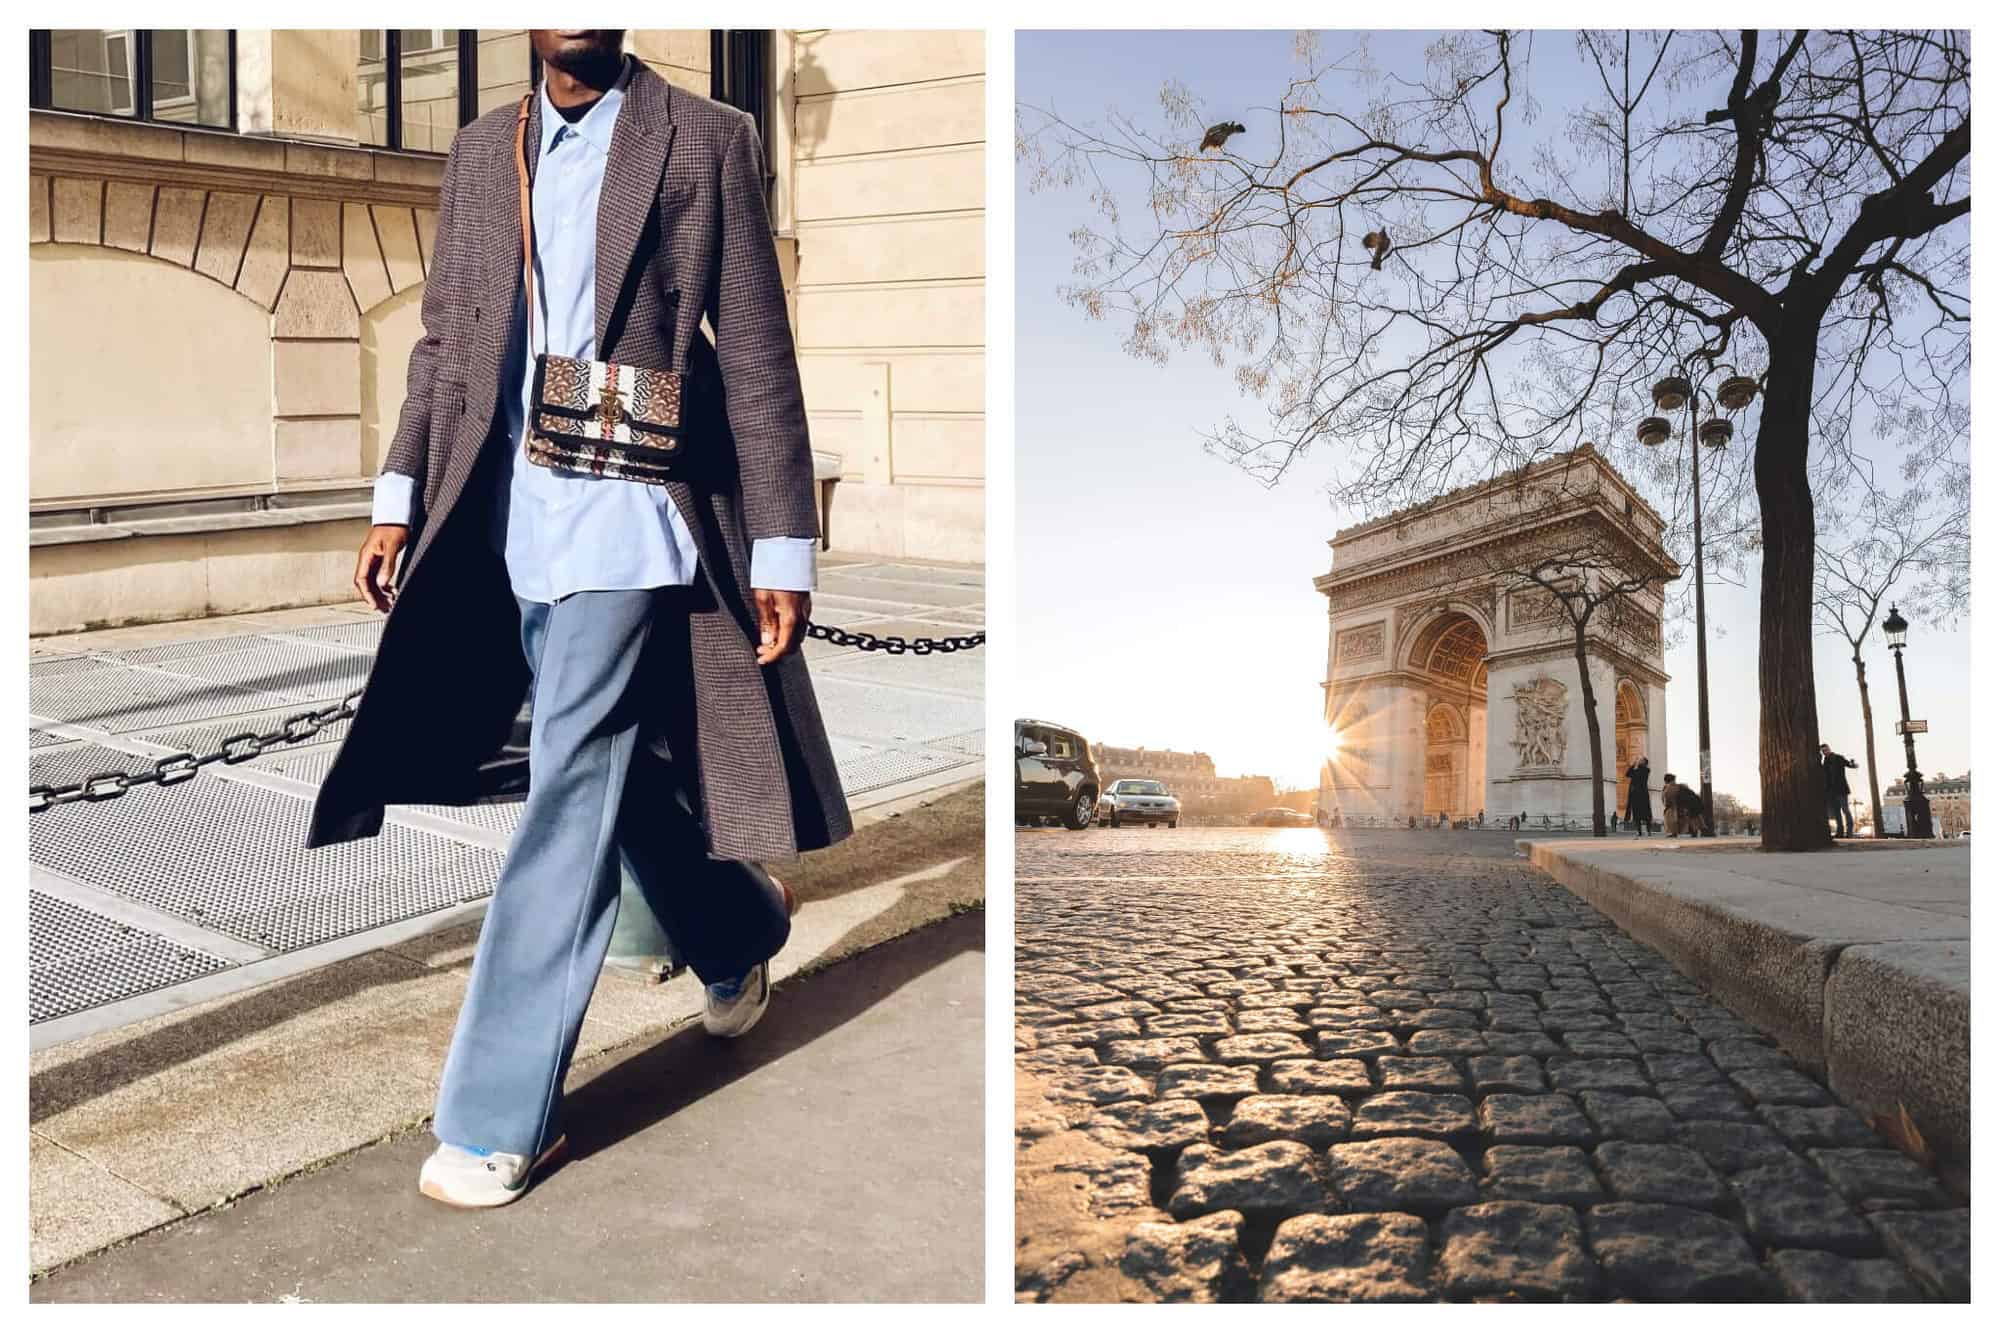
[[[1504,833],[1016,883],[1022,1301],[1968,1299],[1966,1199]]]

